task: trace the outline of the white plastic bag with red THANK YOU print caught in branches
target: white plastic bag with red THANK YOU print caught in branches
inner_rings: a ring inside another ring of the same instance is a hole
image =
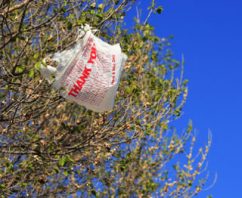
[[[119,44],[102,41],[86,25],[73,48],[53,55],[57,68],[41,66],[41,74],[67,100],[96,112],[109,111],[126,59]]]

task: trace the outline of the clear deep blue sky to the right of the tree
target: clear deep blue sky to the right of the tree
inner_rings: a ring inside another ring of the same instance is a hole
[[[146,8],[148,1],[141,7]],[[173,51],[184,54],[189,97],[181,118],[189,118],[201,142],[213,135],[208,192],[215,198],[242,197],[242,1],[163,0],[162,15],[150,22],[159,36],[174,35]]]

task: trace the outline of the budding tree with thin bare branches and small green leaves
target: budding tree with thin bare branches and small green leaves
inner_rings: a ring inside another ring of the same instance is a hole
[[[0,5],[0,194],[192,197],[210,147],[194,154],[191,124],[176,132],[187,97],[169,39],[147,19],[125,29],[135,0],[23,0]],[[84,24],[128,55],[114,110],[94,113],[43,80],[43,58],[71,47]],[[180,162],[180,163],[179,163]]]

